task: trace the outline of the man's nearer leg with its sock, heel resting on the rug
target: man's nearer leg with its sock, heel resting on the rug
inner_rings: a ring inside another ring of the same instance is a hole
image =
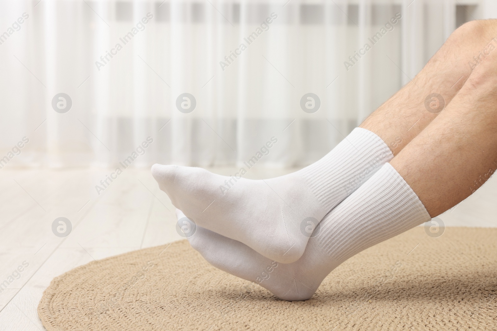
[[[487,28],[494,33],[494,24]],[[493,174],[496,104],[497,50],[474,69],[436,120],[325,217],[295,263],[278,264],[203,228],[188,239],[212,265],[257,282],[279,298],[308,299],[341,262],[438,215]],[[178,220],[182,217],[178,212]]]

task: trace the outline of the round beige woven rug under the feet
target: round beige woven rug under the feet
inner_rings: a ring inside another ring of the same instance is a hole
[[[286,302],[205,262],[187,241],[91,262],[52,280],[48,331],[497,330],[497,229],[414,228]]]

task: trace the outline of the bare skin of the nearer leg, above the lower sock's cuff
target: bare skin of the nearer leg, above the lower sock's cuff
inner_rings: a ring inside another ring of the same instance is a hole
[[[479,23],[497,35],[495,21]],[[496,105],[494,49],[475,67],[450,105],[390,162],[430,216],[466,199],[497,169]]]

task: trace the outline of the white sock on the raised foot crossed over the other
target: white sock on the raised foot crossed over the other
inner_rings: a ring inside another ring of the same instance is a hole
[[[152,174],[172,204],[198,226],[240,241],[271,260],[292,263],[309,240],[303,229],[311,223],[315,227],[392,157],[379,136],[356,128],[319,161],[273,179],[226,177],[159,164]],[[230,181],[233,185],[226,191]]]

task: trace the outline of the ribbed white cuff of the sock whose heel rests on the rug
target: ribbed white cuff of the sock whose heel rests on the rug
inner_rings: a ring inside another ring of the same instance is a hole
[[[328,254],[345,261],[431,217],[409,184],[386,163],[326,219],[322,231],[330,236],[323,236],[321,245]],[[335,233],[339,234],[336,238]]]

